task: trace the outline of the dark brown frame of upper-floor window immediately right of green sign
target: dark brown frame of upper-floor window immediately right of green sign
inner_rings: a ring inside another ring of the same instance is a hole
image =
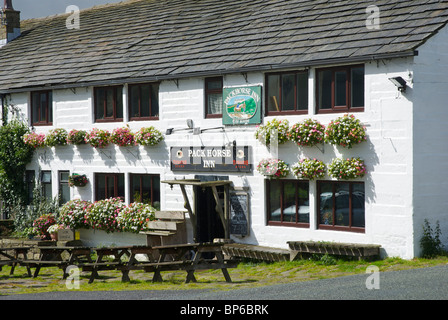
[[[299,83],[298,83],[298,76],[300,75],[306,75],[306,88],[304,88],[304,92],[306,92],[306,97],[304,98],[306,102],[304,103],[306,105],[305,109],[299,109],[299,101],[302,99],[302,95],[299,94]],[[294,110],[284,110],[283,107],[283,78],[285,76],[291,76],[294,75]],[[278,97],[279,101],[275,99],[274,104],[276,105],[277,111],[269,110],[270,105],[270,99],[273,96],[269,96],[270,88],[269,88],[269,77],[279,77],[279,92]],[[282,115],[297,115],[297,114],[308,114],[308,106],[309,106],[309,94],[308,94],[308,79],[309,79],[309,72],[308,70],[295,70],[295,71],[285,71],[285,72],[272,72],[272,73],[266,73],[265,74],[265,87],[266,87],[266,96],[265,96],[265,115],[266,116],[282,116]]]

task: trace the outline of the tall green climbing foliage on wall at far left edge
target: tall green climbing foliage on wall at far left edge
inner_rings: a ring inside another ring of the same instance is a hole
[[[0,127],[0,197],[8,215],[26,199],[24,175],[34,149],[26,145],[23,136],[30,130],[25,123],[14,120]]]

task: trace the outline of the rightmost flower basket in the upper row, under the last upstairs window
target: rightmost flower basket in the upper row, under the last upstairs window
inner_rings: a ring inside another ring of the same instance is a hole
[[[348,149],[366,140],[365,127],[352,114],[345,114],[331,121],[325,131],[326,142]]]

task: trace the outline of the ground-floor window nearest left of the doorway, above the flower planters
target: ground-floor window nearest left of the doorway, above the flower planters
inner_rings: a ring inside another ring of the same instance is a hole
[[[131,202],[146,203],[160,209],[160,176],[131,174]]]

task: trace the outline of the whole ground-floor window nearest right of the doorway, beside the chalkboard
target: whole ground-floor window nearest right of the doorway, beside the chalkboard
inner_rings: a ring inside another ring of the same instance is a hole
[[[309,182],[266,180],[269,225],[309,227]]]

